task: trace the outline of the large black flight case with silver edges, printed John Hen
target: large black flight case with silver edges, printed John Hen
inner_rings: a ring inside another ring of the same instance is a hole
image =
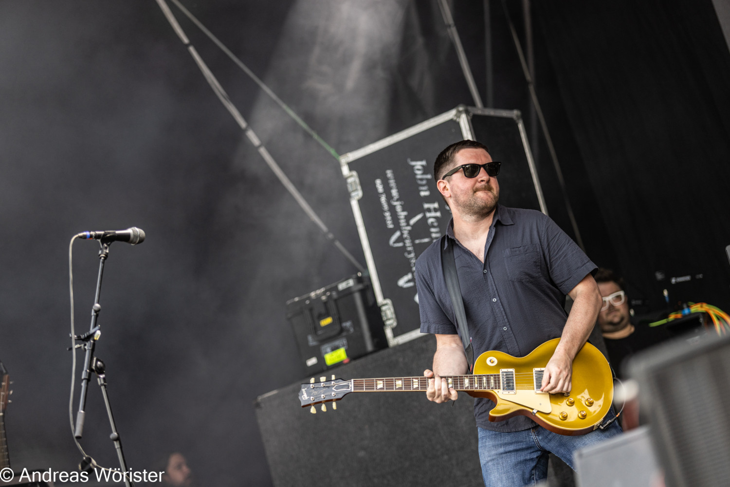
[[[547,214],[518,110],[460,106],[340,157],[391,347],[420,336],[415,260],[451,218],[434,181],[434,160],[463,139],[482,142],[502,161],[500,203]]]

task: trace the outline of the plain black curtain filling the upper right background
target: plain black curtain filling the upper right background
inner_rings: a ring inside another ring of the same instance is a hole
[[[534,9],[615,249],[599,264],[653,307],[663,288],[670,304],[727,307],[730,55],[712,2]],[[683,275],[692,280],[670,282]]]

